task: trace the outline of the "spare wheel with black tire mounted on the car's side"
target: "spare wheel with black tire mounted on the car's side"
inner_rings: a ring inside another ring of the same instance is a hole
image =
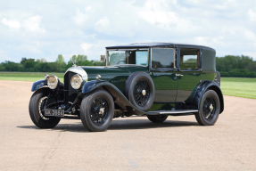
[[[144,90],[145,94],[143,94]],[[144,111],[149,110],[154,99],[152,78],[141,71],[131,74],[125,85],[125,95],[136,108]]]

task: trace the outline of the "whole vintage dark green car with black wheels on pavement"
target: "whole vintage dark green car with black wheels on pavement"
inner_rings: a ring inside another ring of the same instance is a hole
[[[146,116],[161,123],[195,115],[214,125],[224,110],[216,52],[202,45],[145,43],[106,47],[105,67],[75,64],[59,78],[32,85],[29,115],[41,128],[80,118],[89,131],[104,131],[112,118]]]

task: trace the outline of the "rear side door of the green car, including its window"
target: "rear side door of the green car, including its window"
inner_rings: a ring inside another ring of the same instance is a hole
[[[178,89],[176,102],[185,102],[201,80],[200,49],[178,48]]]

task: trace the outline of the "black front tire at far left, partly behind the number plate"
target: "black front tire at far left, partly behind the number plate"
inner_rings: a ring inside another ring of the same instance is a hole
[[[41,110],[45,107],[45,101],[48,95],[48,89],[42,88],[37,90],[31,98],[29,102],[29,115],[32,119],[33,123],[40,128],[53,128],[57,126],[61,120],[61,118],[48,117],[46,118],[43,115]]]

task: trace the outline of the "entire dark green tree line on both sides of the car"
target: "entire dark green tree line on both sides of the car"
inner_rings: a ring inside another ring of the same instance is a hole
[[[45,59],[35,60],[22,58],[20,63],[4,61],[0,63],[0,71],[20,72],[64,72],[69,69],[73,62],[78,66],[104,66],[104,61],[88,61],[87,55],[73,55],[67,63],[62,54],[56,61],[47,62]],[[256,61],[249,56],[226,55],[216,57],[216,69],[221,77],[256,77]]]

